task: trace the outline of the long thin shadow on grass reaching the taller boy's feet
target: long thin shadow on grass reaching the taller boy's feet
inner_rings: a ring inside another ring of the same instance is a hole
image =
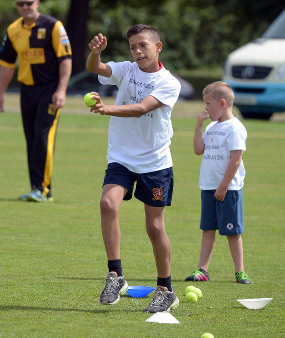
[[[106,306],[106,305],[102,305]],[[62,311],[62,312],[84,312],[84,313],[113,313],[113,312],[143,312],[142,309],[134,309],[134,308],[114,308],[107,307],[106,309],[82,309],[82,308],[59,308],[59,307],[41,307],[41,306],[23,306],[23,305],[0,305],[0,311]]]

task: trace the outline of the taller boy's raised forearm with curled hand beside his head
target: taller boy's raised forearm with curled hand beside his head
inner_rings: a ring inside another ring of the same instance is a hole
[[[108,64],[101,62],[100,53],[107,46],[107,38],[102,33],[95,35],[88,43],[90,54],[87,58],[86,69],[98,75],[110,77],[112,69]]]

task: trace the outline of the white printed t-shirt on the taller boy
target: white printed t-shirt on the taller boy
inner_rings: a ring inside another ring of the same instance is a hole
[[[102,84],[115,84],[115,104],[139,103],[152,95],[164,105],[140,117],[111,116],[108,132],[108,163],[118,162],[136,173],[151,172],[172,166],[170,138],[173,135],[171,110],[180,83],[162,68],[156,72],[141,71],[136,62],[108,62],[110,77],[98,75]]]

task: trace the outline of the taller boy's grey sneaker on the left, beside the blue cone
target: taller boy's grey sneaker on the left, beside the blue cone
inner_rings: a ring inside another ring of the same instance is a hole
[[[114,271],[106,273],[106,285],[100,295],[100,303],[111,305],[119,301],[119,295],[127,290],[127,282],[124,277],[118,277]]]

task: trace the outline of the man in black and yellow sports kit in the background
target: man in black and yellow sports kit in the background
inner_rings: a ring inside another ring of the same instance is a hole
[[[14,73],[21,83],[21,116],[31,191],[23,201],[52,201],[50,182],[55,133],[71,74],[71,47],[60,21],[38,11],[39,0],[16,0],[21,15],[6,31],[0,48],[0,111]]]

